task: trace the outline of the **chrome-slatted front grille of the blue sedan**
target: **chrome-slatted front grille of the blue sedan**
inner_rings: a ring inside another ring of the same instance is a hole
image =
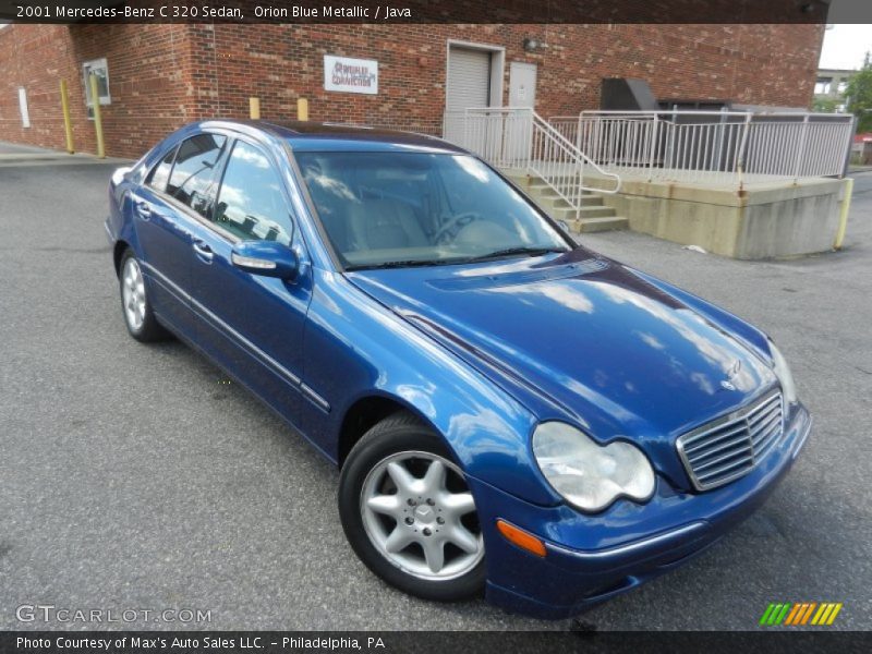
[[[708,491],[750,472],[780,439],[783,413],[775,392],[680,436],[678,455],[693,486]]]

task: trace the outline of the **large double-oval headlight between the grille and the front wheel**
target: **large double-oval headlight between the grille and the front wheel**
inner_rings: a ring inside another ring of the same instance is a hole
[[[629,443],[602,446],[566,423],[546,422],[533,433],[533,455],[554,489],[582,511],[601,511],[621,496],[644,501],[654,493],[654,470]]]

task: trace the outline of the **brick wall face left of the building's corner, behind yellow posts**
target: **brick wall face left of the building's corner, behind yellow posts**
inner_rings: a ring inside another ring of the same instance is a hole
[[[187,25],[13,25],[0,29],[0,140],[62,149],[60,80],[69,87],[77,152],[94,152],[82,63],[106,57],[112,104],[101,107],[107,153],[137,157],[168,131],[192,120]],[[31,128],[23,128],[17,89],[27,89]]]

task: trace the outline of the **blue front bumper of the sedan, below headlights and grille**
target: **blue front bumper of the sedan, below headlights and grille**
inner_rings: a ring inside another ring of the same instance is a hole
[[[567,505],[531,505],[470,479],[487,553],[487,600],[535,617],[566,618],[689,560],[750,516],[790,469],[811,416],[798,404],[788,417],[780,443],[748,475],[705,493],[679,492],[658,477],[651,501],[620,500],[595,516]],[[498,519],[538,537],[546,555],[506,541]]]

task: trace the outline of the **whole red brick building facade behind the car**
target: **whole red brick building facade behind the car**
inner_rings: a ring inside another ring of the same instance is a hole
[[[596,109],[604,77],[645,80],[658,98],[808,107],[822,38],[816,24],[15,24],[0,28],[0,140],[62,148],[64,78],[75,147],[94,152],[83,66],[106,75],[107,153],[125,157],[192,120],[246,117],[251,96],[264,118],[295,118],[304,97],[313,120],[433,133],[446,107]],[[366,60],[339,64],[373,86],[325,88],[329,57]]]

